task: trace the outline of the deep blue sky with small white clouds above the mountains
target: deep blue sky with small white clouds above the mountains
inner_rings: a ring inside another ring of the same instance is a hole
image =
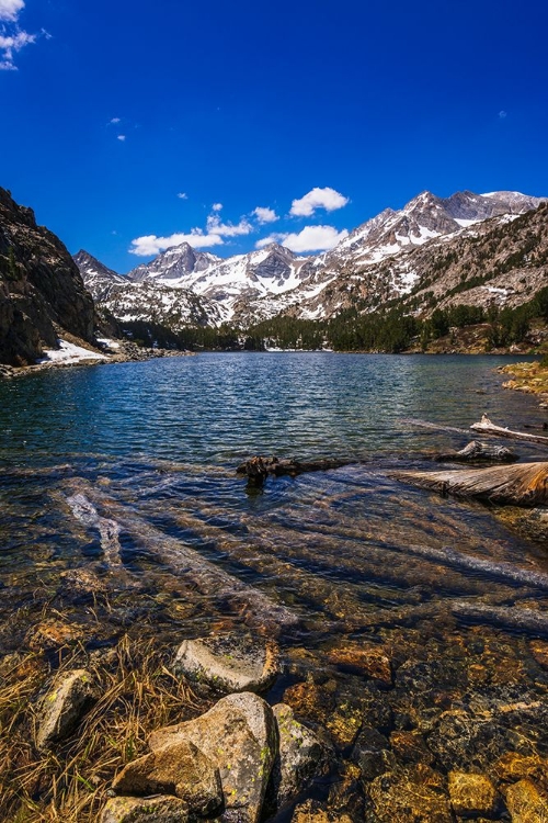
[[[0,185],[121,272],[548,195],[547,31],[538,0],[0,0]]]

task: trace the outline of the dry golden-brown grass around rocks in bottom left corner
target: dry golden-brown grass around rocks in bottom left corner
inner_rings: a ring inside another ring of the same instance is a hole
[[[85,665],[101,697],[73,735],[50,752],[33,744],[37,701],[52,679],[41,654],[13,656],[0,680],[1,823],[92,823],[109,797],[113,776],[145,749],[147,735],[208,707],[165,665],[153,641],[123,638],[93,659],[83,649],[60,670]]]

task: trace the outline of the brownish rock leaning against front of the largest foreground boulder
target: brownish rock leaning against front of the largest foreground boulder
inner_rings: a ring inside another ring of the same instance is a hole
[[[202,815],[222,803],[218,769],[187,741],[133,760],[116,776],[113,789],[119,794],[176,794]]]

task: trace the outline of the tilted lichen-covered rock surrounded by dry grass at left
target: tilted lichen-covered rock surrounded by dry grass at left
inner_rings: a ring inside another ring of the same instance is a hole
[[[58,675],[39,707],[37,748],[47,748],[70,734],[94,698],[93,681],[84,668]]]

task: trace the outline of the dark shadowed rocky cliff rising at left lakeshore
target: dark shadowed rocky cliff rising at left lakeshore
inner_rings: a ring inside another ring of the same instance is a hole
[[[0,362],[32,363],[64,331],[92,342],[93,319],[66,247],[0,189]]]

